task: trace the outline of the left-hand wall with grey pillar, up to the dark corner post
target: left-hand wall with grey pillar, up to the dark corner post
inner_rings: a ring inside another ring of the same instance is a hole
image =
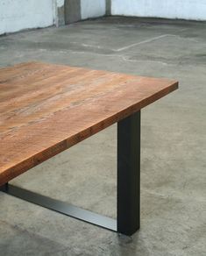
[[[0,0],[0,34],[101,17],[106,12],[105,1]]]

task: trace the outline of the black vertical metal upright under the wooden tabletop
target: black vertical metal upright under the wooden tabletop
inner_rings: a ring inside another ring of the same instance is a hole
[[[117,124],[117,232],[139,230],[140,111]]]

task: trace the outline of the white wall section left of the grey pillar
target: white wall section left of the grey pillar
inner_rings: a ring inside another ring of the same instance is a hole
[[[0,0],[0,34],[53,25],[53,0]]]

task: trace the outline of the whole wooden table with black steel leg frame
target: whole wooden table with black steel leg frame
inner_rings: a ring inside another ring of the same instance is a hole
[[[177,88],[178,82],[167,79],[40,62],[1,68],[1,190],[89,223],[133,234],[139,229],[140,110]],[[8,183],[115,123],[117,220]]]

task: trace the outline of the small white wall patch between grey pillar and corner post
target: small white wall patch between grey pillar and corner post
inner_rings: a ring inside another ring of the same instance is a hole
[[[104,16],[106,13],[105,0],[81,0],[81,17],[95,18]]]

